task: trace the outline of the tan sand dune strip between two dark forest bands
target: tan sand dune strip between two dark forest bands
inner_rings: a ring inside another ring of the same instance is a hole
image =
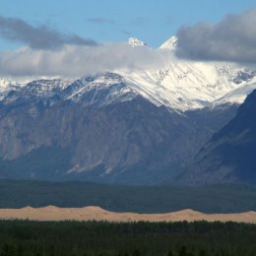
[[[47,206],[43,208],[25,207],[21,209],[0,209],[1,220],[34,220],[34,221],[109,221],[109,222],[178,222],[178,221],[208,221],[208,222],[238,222],[256,224],[256,212],[242,214],[207,215],[192,210],[182,210],[166,214],[135,214],[113,213],[99,207],[58,208]]]

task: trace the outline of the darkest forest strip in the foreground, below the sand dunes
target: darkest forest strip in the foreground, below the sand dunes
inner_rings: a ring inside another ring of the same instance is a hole
[[[0,222],[0,256],[255,256],[256,225]]]

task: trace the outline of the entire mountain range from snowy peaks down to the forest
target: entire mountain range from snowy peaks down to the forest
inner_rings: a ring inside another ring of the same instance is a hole
[[[177,43],[171,37],[157,49],[165,56],[163,68],[69,80],[2,79],[0,177],[132,185],[256,182],[255,93],[248,96],[256,89],[255,70],[177,59]],[[148,47],[137,38],[129,44]],[[252,162],[243,158],[246,150]]]

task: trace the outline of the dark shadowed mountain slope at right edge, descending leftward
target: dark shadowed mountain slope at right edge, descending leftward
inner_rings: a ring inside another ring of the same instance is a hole
[[[256,183],[256,91],[200,151],[180,180],[186,183]]]

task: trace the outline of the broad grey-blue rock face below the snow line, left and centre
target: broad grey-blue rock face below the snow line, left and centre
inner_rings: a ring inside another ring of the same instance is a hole
[[[2,102],[0,177],[168,182],[236,108],[180,114],[141,96],[103,106],[60,98]]]

